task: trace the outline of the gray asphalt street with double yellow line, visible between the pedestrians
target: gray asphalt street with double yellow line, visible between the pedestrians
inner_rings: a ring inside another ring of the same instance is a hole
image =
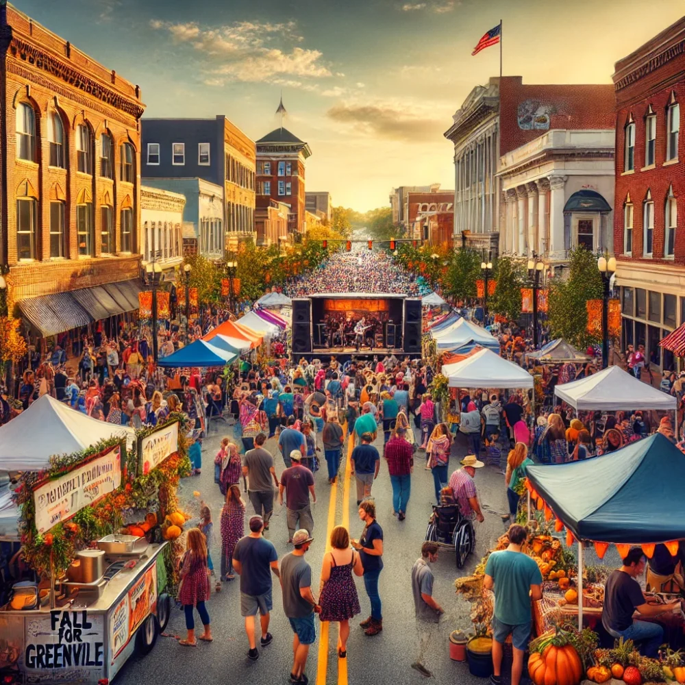
[[[192,514],[199,512],[203,499],[212,509],[214,519],[214,540],[212,558],[219,567],[219,513],[223,503],[219,486],[214,484],[214,455],[219,449],[223,436],[230,436],[232,431],[222,423],[212,423],[210,436],[203,445],[203,469],[201,475],[184,479],[179,489],[179,498],[184,507]],[[417,431],[418,432],[418,431]],[[376,446],[382,451],[382,432],[379,433]],[[284,469],[284,464],[275,440],[269,440],[267,447],[274,453],[276,472]],[[449,471],[458,468],[458,458],[465,450],[456,447]],[[323,453],[322,453],[323,454]],[[325,553],[329,511],[334,513],[335,523],[343,523],[342,496],[347,491],[347,521],[351,536],[358,538],[363,525],[358,519],[356,506],[356,488],[353,477],[345,488],[344,477],[339,480],[337,507],[329,508],[332,488],[327,483],[325,460],[323,469],[315,475],[317,502],[314,510],[314,543],[308,551],[308,561],[312,565],[312,585],[314,595],[319,595],[319,573],[321,560]],[[347,669],[341,664],[338,673],[336,653],[337,627],[331,625],[327,646],[321,643],[321,623],[317,621],[317,642],[310,649],[306,669],[311,682],[339,683],[353,685],[366,684],[412,684],[427,680],[412,670],[411,664],[416,660],[416,634],[414,631],[414,606],[410,573],[416,558],[421,554],[427,528],[427,519],[434,499],[433,478],[425,470],[423,453],[417,453],[412,475],[412,492],[405,521],[398,521],[393,516],[392,488],[386,464],[382,461],[377,480],[373,484],[372,495],[377,505],[377,521],[384,529],[384,570],[380,575],[379,590],[383,602],[383,631],[374,637],[367,637],[356,625],[370,613],[369,599],[364,592],[362,579],[357,578],[362,613],[351,625],[351,636],[348,643]],[[348,470],[349,473],[349,470]],[[348,475],[349,478],[349,475]],[[448,636],[452,630],[469,630],[470,605],[456,595],[454,581],[461,575],[469,575],[473,567],[482,558],[486,550],[503,533],[504,527],[499,514],[506,510],[506,493],[504,479],[494,467],[480,469],[476,477],[479,497],[484,506],[484,523],[475,523],[476,549],[469,558],[465,568],[458,571],[453,552],[440,549],[438,561],[433,566],[435,575],[434,595],[445,609],[440,623],[440,636],[430,647],[427,667],[432,671],[432,680],[438,683],[475,684],[483,680],[470,675],[466,664],[449,659]],[[199,497],[193,493],[199,493]],[[252,512],[247,503],[248,515]],[[266,536],[274,543],[279,558],[282,558],[292,547],[288,545],[288,530],[285,521],[285,510],[275,505],[271,527]],[[218,570],[217,570],[218,574]],[[292,632],[288,619],[282,608],[281,590],[277,579],[273,584],[273,612],[271,613],[270,632],[273,643],[260,649],[260,658],[252,662],[247,658],[247,637],[243,619],[240,616],[239,580],[224,583],[221,592],[212,592],[207,603],[212,623],[213,643],[198,643],[197,647],[182,647],[177,644],[175,636],[184,636],[186,632],[184,616],[180,610],[172,609],[166,634],[158,638],[157,644],[148,656],[132,656],[125,664],[116,682],[121,684],[142,684],[149,682],[185,684],[195,682],[229,682],[229,683],[287,683],[292,665]],[[213,584],[212,584],[213,585]],[[196,626],[199,620],[196,618]],[[319,664],[321,660],[321,664]],[[318,679],[317,671],[321,671]],[[325,677],[323,677],[325,673]]]

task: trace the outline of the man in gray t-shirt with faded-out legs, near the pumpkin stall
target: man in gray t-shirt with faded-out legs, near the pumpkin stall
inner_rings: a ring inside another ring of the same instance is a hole
[[[412,567],[412,594],[416,612],[416,634],[419,638],[419,658],[412,664],[412,669],[427,677],[432,673],[423,661],[428,647],[438,645],[438,623],[444,613],[443,608],[433,599],[433,572],[428,565],[437,559],[437,543],[426,542],[421,545],[421,558]]]

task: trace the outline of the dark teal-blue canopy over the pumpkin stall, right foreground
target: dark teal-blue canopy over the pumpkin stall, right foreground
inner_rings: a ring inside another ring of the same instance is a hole
[[[685,454],[659,433],[601,457],[535,464],[530,484],[578,540],[685,538]]]

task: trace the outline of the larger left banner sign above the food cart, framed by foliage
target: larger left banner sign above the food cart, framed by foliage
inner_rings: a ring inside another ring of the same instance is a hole
[[[34,489],[36,530],[45,533],[120,485],[121,447],[115,445],[82,466]]]

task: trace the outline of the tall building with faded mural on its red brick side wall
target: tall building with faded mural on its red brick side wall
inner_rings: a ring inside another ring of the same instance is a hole
[[[507,238],[503,242],[499,234],[506,198],[513,201],[511,194],[503,195],[499,175],[505,155],[555,129],[612,129],[612,103],[610,85],[529,85],[523,84],[521,76],[504,76],[476,86],[445,132],[454,146],[455,236],[466,234],[466,244],[479,249],[513,249],[513,243]],[[535,214],[535,203],[529,208],[527,192],[534,194],[537,186],[516,187],[509,189],[516,192],[519,223],[519,216]],[[516,251],[522,256],[532,253],[527,230],[521,238],[516,238]]]

